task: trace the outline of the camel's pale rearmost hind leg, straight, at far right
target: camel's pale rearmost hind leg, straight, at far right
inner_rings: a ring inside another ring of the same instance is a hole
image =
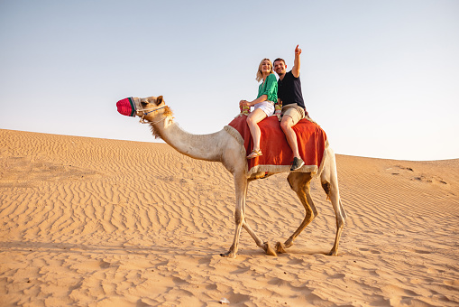
[[[339,196],[338,174],[336,172],[335,154],[331,149],[327,150],[326,165],[324,167],[324,171],[320,175],[320,181],[322,182],[322,187],[326,191],[326,195],[328,195],[328,198],[332,202],[336,217],[335,243],[328,255],[337,256],[339,239],[341,237],[341,233],[343,232],[344,221],[347,218],[347,215],[344,211],[343,203],[341,202],[341,198]]]

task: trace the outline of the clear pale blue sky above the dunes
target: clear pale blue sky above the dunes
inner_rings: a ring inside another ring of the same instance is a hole
[[[336,154],[459,158],[459,1],[0,0],[0,128],[154,142],[115,103],[162,95],[190,133],[292,67]],[[157,141],[156,141],[157,142]]]

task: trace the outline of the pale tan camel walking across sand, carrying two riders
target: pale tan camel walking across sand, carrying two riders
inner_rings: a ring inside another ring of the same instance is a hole
[[[233,135],[230,135],[225,129],[209,135],[189,134],[175,123],[172,111],[170,107],[166,106],[162,96],[133,98],[133,101],[137,107],[134,107],[135,110],[131,116],[141,117],[142,123],[151,126],[151,132],[155,137],[161,138],[179,153],[191,158],[223,163],[226,170],[233,174],[236,199],[234,209],[234,240],[228,252],[220,254],[221,256],[228,258],[236,257],[242,228],[250,234],[258,247],[262,247],[266,255],[277,256],[278,253],[286,253],[286,249],[293,245],[293,241],[301,231],[317,217],[317,209],[312,201],[309,186],[314,175],[310,172],[289,172],[287,179],[290,188],[297,193],[298,199],[306,209],[306,216],[297,230],[284,243],[278,242],[275,248],[271,247],[267,241],[263,241],[255,234],[245,220],[245,200],[249,182],[259,178],[266,178],[274,174],[274,172],[253,173],[247,176],[245,150],[242,150],[242,145],[236,141]],[[329,146],[326,147],[324,159],[326,160],[323,163],[321,172],[317,173],[317,176],[320,177],[322,187],[326,191],[327,199],[331,200],[333,209],[335,210],[335,243],[328,255],[337,256],[339,240],[347,216],[339,195],[335,154]]]

